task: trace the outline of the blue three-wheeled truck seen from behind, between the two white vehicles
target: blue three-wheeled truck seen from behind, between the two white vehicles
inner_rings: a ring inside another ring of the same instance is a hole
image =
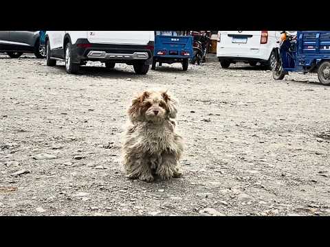
[[[155,50],[151,69],[156,69],[157,62],[159,66],[162,66],[162,63],[181,62],[182,69],[186,71],[192,55],[192,36],[189,31],[155,31]]]

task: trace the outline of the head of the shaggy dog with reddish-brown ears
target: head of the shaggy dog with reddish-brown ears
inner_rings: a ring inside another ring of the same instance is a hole
[[[168,91],[144,91],[137,95],[129,108],[129,117],[134,121],[161,122],[175,119],[177,100]]]

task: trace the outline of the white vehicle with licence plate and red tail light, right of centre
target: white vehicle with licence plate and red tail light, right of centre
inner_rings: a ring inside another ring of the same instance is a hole
[[[231,63],[247,62],[255,66],[257,62],[272,67],[275,61],[274,49],[278,47],[278,31],[219,31],[217,58],[221,67]]]

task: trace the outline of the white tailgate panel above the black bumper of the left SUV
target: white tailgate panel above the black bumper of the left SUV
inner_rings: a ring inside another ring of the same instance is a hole
[[[147,45],[154,40],[153,31],[87,31],[89,43]]]

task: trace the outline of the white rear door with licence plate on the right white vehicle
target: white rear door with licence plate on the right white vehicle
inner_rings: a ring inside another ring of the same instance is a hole
[[[258,53],[261,31],[220,31],[220,47],[226,54],[244,56]]]

